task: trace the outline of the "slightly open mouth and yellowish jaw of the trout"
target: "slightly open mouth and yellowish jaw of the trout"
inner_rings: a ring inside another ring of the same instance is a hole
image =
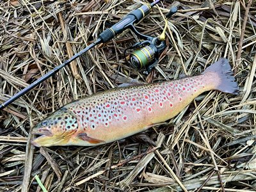
[[[45,129],[34,129],[31,134],[39,135],[31,140],[32,145],[35,147],[51,147],[56,145],[65,145],[67,141],[63,140],[60,135],[54,135],[51,131]]]

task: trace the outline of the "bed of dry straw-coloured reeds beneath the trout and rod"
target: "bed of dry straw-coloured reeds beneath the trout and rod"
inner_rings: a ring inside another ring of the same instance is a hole
[[[82,50],[141,2],[1,1],[0,102]],[[170,2],[160,6],[163,13]],[[236,56],[248,1],[175,4],[180,11],[169,21],[169,49],[148,77],[125,63],[124,49],[137,40],[125,32],[0,111],[1,191],[40,191],[35,175],[48,191],[256,190],[255,1],[241,60]],[[163,26],[154,8],[138,29],[159,35]],[[152,83],[193,76],[221,57],[230,60],[241,93],[200,95],[170,124],[148,131],[157,148],[131,138],[100,147],[26,145],[36,122],[72,100],[128,77]]]

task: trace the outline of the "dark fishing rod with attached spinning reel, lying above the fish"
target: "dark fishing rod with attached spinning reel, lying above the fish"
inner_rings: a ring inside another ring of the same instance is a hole
[[[61,68],[65,67],[72,61],[76,60],[76,58],[79,58],[81,55],[83,55],[88,50],[92,49],[96,45],[106,43],[112,38],[114,38],[116,35],[122,33],[125,29],[131,29],[134,31],[134,33],[141,38],[145,39],[145,41],[137,43],[132,45],[132,47],[129,47],[129,49],[136,49],[133,51],[130,56],[126,56],[127,50],[125,50],[125,59],[128,58],[128,63],[134,68],[146,68],[145,74],[148,74],[152,68],[157,64],[159,61],[159,54],[165,49],[166,44],[164,42],[165,37],[163,36],[157,38],[152,36],[147,36],[139,33],[136,28],[134,27],[134,24],[140,22],[141,19],[143,19],[146,15],[150,13],[150,10],[153,6],[155,6],[157,3],[159,3],[161,0],[156,0],[153,3],[150,4],[143,4],[140,6],[140,8],[137,8],[136,10],[133,10],[132,12],[128,13],[123,17],[120,21],[118,21],[116,24],[114,24],[111,28],[108,28],[104,30],[102,33],[100,33],[99,38],[93,42],[92,44],[88,45],[85,49],[78,52],[74,56],[72,56],[69,60],[65,61],[64,63],[61,63],[61,65],[58,65],[57,67],[53,68],[50,72],[45,74],[44,76],[37,79],[35,82],[31,83],[29,86],[18,92],[17,94],[13,95],[10,99],[6,100],[3,104],[0,105],[0,110],[6,108],[9,104],[11,104],[13,101],[17,100],[19,97],[24,95],[25,93],[29,92],[29,90],[35,88],[38,84],[42,83],[49,77],[56,74]],[[173,15],[173,13],[177,12],[177,7],[174,7],[170,10],[170,12],[166,15],[166,17],[170,17]],[[167,24],[167,22],[166,22]],[[165,26],[166,29],[166,26]],[[165,31],[164,31],[165,32]]]

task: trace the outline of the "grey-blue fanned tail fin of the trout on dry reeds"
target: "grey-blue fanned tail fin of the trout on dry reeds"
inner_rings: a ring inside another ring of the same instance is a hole
[[[206,76],[207,74],[213,75],[215,90],[234,95],[239,94],[238,84],[227,59],[222,58],[216,61],[210,67],[206,68],[202,74]]]

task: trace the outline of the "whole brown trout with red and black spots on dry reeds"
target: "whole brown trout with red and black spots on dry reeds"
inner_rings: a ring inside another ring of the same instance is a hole
[[[225,58],[198,76],[113,88],[70,102],[33,127],[31,133],[37,137],[31,143],[35,147],[96,146],[122,140],[173,118],[211,90],[239,94]]]

